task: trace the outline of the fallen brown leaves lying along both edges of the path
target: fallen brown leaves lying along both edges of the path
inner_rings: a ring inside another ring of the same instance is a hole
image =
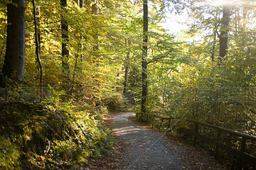
[[[113,118],[118,114],[110,115],[106,118],[106,125],[111,127],[113,124]],[[134,117],[129,118],[130,121],[133,121],[137,125],[142,125],[135,120]],[[158,132],[158,130],[152,129],[149,126],[142,125],[146,130],[152,132]],[[109,156],[106,156],[100,160],[94,160],[90,167],[87,169],[121,169],[122,162],[126,161],[126,152],[130,149],[129,144],[124,142],[121,137],[116,137],[116,144],[113,151]],[[178,160],[182,162],[182,169],[198,170],[198,169],[226,169],[221,164],[218,164],[214,160],[214,156],[211,156],[210,153],[203,151],[201,148],[194,148],[190,144],[186,144],[186,141],[181,138],[174,136],[171,133],[166,133],[164,136],[166,144],[170,147],[171,152],[174,152],[178,156]],[[163,150],[162,152],[166,152]],[[171,153],[170,153],[171,154]],[[150,160],[150,159],[149,159]],[[143,166],[143,169],[147,169],[146,165]],[[158,167],[162,169],[162,167]]]

